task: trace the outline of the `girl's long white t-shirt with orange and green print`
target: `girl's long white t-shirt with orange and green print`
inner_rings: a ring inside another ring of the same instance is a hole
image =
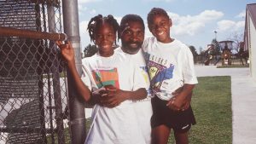
[[[99,89],[108,84],[129,91],[147,87],[143,76],[139,74],[139,68],[120,53],[114,53],[110,57],[96,54],[83,59],[82,62],[82,80],[89,89]],[[113,108],[96,105],[91,118],[92,124],[85,140],[86,144],[145,143],[132,101],[123,101]]]

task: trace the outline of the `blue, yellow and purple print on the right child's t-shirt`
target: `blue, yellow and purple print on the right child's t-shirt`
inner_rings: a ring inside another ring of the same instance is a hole
[[[148,61],[150,86],[154,93],[160,92],[160,88],[164,83],[164,80],[172,78],[173,69],[174,66],[172,64],[167,67],[151,60]]]

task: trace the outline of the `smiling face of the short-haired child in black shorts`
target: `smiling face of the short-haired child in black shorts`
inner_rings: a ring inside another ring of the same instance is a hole
[[[151,24],[148,24],[149,31],[161,43],[172,42],[172,38],[170,37],[171,26],[172,20],[161,14],[155,15],[153,18],[153,22]]]

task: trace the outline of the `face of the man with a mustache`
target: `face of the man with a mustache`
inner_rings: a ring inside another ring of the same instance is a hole
[[[131,21],[125,25],[123,32],[121,32],[122,48],[125,53],[133,55],[136,54],[143,45],[143,25],[137,21]]]

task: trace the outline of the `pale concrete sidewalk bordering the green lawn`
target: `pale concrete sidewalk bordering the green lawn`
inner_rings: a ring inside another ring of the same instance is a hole
[[[198,77],[231,76],[233,144],[256,144],[256,82],[249,68],[195,66]]]

